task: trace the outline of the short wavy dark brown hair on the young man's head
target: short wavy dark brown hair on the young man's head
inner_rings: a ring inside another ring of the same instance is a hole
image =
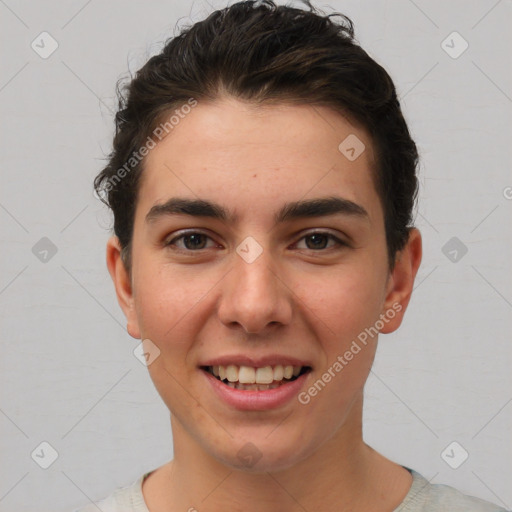
[[[135,77],[120,87],[113,150],[94,188],[114,214],[114,232],[131,273],[131,243],[144,159],[133,154],[155,127],[191,98],[221,94],[263,103],[328,106],[359,122],[370,134],[382,201],[388,259],[408,240],[417,195],[418,152],[388,73],[354,39],[345,15],[325,15],[242,1],[213,12],[166,41]],[[335,18],[339,18],[336,20]],[[130,160],[132,159],[132,160]],[[119,177],[121,168],[129,172]]]

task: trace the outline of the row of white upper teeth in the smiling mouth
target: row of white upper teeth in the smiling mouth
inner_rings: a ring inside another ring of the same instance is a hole
[[[251,366],[211,366],[213,374],[221,380],[229,382],[240,382],[240,384],[271,384],[275,380],[291,379],[299,375],[302,366],[283,366],[278,364],[274,367],[264,366],[263,368],[252,368]]]

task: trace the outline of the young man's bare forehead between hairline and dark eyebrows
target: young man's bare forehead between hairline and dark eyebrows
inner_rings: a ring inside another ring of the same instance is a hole
[[[242,220],[336,194],[372,217],[373,165],[366,131],[327,107],[198,102],[146,156],[136,216],[177,195],[229,205]]]

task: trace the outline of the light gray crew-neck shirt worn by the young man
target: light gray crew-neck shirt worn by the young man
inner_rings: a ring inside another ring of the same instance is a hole
[[[393,512],[507,512],[498,505],[463,494],[454,487],[431,484],[414,469],[403,467],[412,474],[412,485]],[[145,473],[127,487],[116,489],[96,505],[91,503],[74,512],[98,512],[98,507],[102,512],[150,512],[142,495],[142,482],[150,473]]]

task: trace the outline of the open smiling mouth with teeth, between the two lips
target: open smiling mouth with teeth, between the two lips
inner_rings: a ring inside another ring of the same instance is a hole
[[[233,389],[242,391],[266,391],[281,387],[309,373],[310,366],[275,365],[253,368],[250,366],[216,365],[200,366],[200,369]]]

